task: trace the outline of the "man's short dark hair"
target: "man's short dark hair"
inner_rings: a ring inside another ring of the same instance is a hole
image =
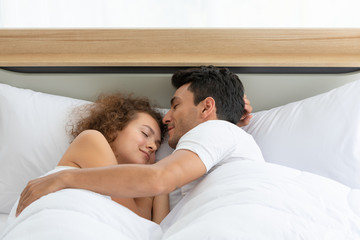
[[[207,97],[214,98],[220,120],[237,123],[244,113],[244,87],[239,77],[228,68],[200,66],[179,70],[171,82],[176,89],[191,83],[189,91],[194,94],[195,105]]]

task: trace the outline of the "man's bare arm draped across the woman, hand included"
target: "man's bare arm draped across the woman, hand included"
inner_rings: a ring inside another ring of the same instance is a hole
[[[206,173],[198,155],[175,151],[151,165],[64,170],[28,183],[20,196],[17,215],[40,197],[65,188],[79,188],[113,197],[146,197],[169,193]]]

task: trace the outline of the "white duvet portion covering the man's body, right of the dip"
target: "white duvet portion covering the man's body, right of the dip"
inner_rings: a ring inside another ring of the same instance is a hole
[[[224,164],[161,223],[163,239],[360,239],[360,193],[271,163]]]

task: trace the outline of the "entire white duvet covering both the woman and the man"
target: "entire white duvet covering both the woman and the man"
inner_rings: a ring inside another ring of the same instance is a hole
[[[4,239],[360,239],[360,191],[287,167],[239,161],[208,174],[160,226],[67,189],[9,218]]]

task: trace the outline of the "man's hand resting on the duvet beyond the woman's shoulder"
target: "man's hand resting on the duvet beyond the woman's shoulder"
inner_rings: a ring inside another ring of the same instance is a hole
[[[65,171],[57,172],[45,177],[29,181],[29,183],[20,195],[19,204],[16,209],[16,216],[19,216],[19,214],[24,210],[24,208],[26,208],[32,202],[36,201],[42,196],[63,189],[64,186],[61,184],[60,181],[62,172]]]

